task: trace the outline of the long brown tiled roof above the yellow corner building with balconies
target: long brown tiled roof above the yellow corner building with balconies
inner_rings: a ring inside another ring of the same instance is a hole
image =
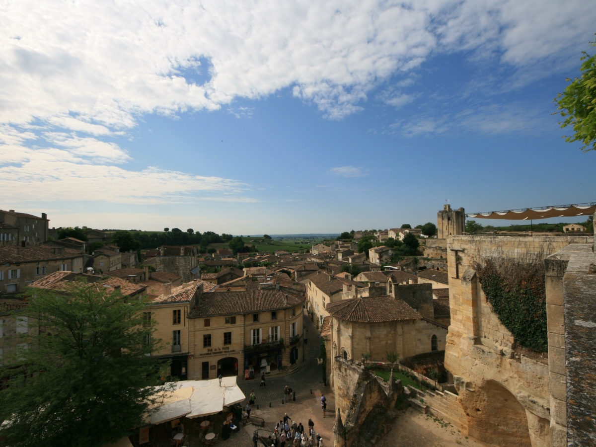
[[[304,301],[305,298],[302,296],[281,290],[257,289],[204,293],[200,304],[191,311],[189,318],[276,311],[302,305]]]

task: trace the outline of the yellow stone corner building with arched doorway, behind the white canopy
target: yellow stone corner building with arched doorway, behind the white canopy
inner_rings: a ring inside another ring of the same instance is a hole
[[[247,379],[303,362],[305,298],[268,288],[204,293],[189,318],[190,377]]]

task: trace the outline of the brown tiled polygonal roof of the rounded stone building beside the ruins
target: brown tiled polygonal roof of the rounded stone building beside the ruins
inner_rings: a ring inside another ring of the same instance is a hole
[[[337,301],[329,303],[325,310],[336,318],[364,323],[421,318],[405,301],[389,295]]]

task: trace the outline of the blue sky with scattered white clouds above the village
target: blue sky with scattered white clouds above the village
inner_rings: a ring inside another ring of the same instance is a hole
[[[287,234],[594,200],[551,116],[585,2],[124,5],[2,19],[2,209]]]

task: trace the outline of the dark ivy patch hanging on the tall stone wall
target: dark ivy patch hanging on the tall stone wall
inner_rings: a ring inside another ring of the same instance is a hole
[[[483,259],[474,265],[486,299],[520,346],[548,351],[544,262]]]

